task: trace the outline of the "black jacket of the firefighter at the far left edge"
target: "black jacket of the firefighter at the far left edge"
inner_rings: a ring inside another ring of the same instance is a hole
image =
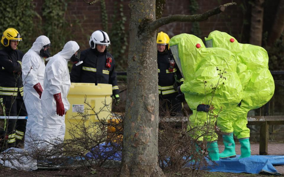
[[[4,47],[0,50],[0,97],[23,96],[22,58],[20,50]]]

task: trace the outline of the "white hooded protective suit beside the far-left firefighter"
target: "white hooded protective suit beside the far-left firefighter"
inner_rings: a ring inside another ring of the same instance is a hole
[[[28,112],[28,122],[25,132],[25,149],[29,147],[32,138],[38,139],[41,137],[42,131],[42,111],[41,99],[33,86],[40,83],[43,87],[43,76],[45,64],[40,56],[40,51],[44,45],[48,45],[50,40],[46,36],[39,36],[30,50],[22,59],[22,80],[24,85],[24,102]]]

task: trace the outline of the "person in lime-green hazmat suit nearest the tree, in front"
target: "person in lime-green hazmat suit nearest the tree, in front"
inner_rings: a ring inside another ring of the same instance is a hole
[[[190,136],[197,141],[206,141],[209,158],[219,160],[218,137],[214,130],[216,117],[220,111],[236,107],[242,98],[236,58],[226,49],[206,48],[200,38],[189,34],[172,37],[169,45],[184,78],[179,94],[185,95],[193,111],[188,129],[196,131],[191,131],[194,133]],[[214,109],[209,110],[212,106]],[[213,115],[209,115],[210,111]],[[204,124],[209,127],[209,133]],[[199,151],[198,147],[196,151]]]

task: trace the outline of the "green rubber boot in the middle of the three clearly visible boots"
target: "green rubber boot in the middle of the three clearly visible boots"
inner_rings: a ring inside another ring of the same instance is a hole
[[[236,157],[233,133],[230,133],[229,135],[223,135],[223,143],[225,148],[222,153],[219,153],[220,158]]]

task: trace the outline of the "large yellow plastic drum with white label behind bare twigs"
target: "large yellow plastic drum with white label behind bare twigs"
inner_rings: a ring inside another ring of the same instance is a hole
[[[111,94],[111,84],[98,84],[96,86],[94,83],[71,83],[67,95],[70,109],[65,115],[66,131],[64,138],[71,139],[74,135],[80,137],[84,127],[87,128],[89,133],[95,133],[97,127],[92,122],[98,122],[99,119],[106,121],[111,115]],[[70,129],[72,130],[70,131]]]

